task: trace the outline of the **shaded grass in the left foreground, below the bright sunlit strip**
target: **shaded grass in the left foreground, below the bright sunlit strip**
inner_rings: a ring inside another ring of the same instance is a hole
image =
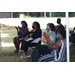
[[[23,52],[14,53],[15,48],[11,47],[2,47],[0,51],[0,62],[31,62],[31,58],[20,59],[20,56],[23,55]]]

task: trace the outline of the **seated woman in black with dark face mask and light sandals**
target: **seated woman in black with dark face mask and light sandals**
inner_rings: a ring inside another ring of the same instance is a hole
[[[22,50],[24,50],[24,54],[20,57],[21,59],[29,57],[28,48],[31,46],[31,42],[36,38],[41,38],[42,31],[40,29],[40,24],[38,22],[34,22],[32,24],[32,28],[33,30],[30,32],[30,34],[24,39],[24,41],[22,41]],[[33,40],[26,41],[29,38],[33,38]]]

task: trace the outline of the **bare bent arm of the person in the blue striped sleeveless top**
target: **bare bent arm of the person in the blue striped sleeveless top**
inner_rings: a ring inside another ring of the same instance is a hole
[[[62,46],[62,43],[60,41],[57,41],[55,43],[52,43],[52,41],[49,39],[48,35],[46,35],[44,33],[44,36],[47,40],[47,45],[48,45],[48,48],[49,49],[57,49],[58,47],[61,47]]]

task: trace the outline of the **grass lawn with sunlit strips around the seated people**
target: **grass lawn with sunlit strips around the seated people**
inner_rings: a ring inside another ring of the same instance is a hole
[[[42,31],[44,32],[45,30]],[[2,29],[1,32],[2,51],[0,50],[0,62],[31,62],[31,58],[20,59],[20,56],[23,54],[23,52],[14,53],[15,47],[12,40],[14,36],[17,36],[14,27],[9,29],[9,27],[6,26],[6,29]],[[71,62],[75,62],[75,47],[71,46],[70,57]]]

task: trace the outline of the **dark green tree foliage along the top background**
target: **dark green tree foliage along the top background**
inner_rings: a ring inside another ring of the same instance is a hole
[[[19,17],[20,14],[31,17],[44,17],[44,12],[13,12],[13,16]],[[46,12],[46,16],[50,17],[50,12]],[[52,12],[52,17],[65,17],[65,12]],[[70,17],[75,17],[75,12],[69,12]]]

